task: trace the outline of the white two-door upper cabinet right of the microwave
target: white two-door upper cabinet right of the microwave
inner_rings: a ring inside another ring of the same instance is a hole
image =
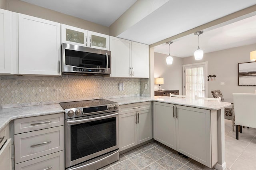
[[[110,77],[149,77],[148,45],[110,36]]]

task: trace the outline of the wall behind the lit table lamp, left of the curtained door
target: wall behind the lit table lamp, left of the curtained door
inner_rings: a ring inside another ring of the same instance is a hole
[[[154,53],[154,78],[164,77],[162,89],[179,90],[182,95],[182,58],[173,57],[172,65],[167,65],[167,56],[162,53]],[[157,88],[158,85],[154,85],[155,91]]]

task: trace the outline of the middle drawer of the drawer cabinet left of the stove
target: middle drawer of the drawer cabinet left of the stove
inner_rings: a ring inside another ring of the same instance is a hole
[[[14,135],[15,163],[64,150],[64,126]]]

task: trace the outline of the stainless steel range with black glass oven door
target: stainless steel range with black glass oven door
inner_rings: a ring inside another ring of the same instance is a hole
[[[60,103],[65,109],[66,170],[94,170],[119,159],[118,103]]]

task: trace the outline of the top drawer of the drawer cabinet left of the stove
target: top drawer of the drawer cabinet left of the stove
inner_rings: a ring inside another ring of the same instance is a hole
[[[14,120],[14,134],[64,125],[64,113]]]

